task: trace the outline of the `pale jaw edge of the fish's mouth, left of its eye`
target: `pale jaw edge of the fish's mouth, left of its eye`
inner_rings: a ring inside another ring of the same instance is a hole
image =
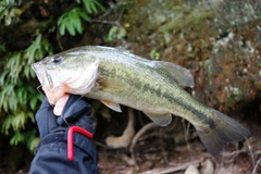
[[[52,89],[53,88],[53,82],[49,73],[47,73],[47,70],[41,64],[41,62],[37,62],[32,64],[32,69],[36,73],[36,76],[38,80],[40,82],[42,89]]]

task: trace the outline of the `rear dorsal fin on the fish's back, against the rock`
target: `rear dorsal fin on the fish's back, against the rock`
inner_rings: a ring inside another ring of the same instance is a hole
[[[187,69],[170,62],[163,61],[153,62],[164,67],[179,85],[188,86],[190,88],[194,87],[194,77]]]

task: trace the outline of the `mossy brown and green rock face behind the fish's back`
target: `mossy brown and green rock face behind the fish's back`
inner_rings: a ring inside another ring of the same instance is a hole
[[[197,99],[224,113],[240,113],[261,91],[259,7],[239,0],[137,1],[123,18],[129,26],[127,49],[144,58],[152,51],[189,69]]]

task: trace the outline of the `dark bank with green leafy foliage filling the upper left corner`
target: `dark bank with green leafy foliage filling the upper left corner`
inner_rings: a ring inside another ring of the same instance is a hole
[[[33,154],[39,141],[34,114],[42,95],[30,64],[74,47],[71,38],[83,37],[90,20],[104,12],[103,5],[108,7],[97,0],[0,1],[1,154],[10,154],[1,165],[11,173],[24,163],[25,153],[16,150],[26,147]]]

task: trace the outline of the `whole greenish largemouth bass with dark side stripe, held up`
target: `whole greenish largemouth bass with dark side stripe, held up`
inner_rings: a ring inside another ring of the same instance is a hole
[[[166,126],[172,114],[190,122],[208,151],[217,157],[227,142],[245,140],[250,132],[229,116],[206,107],[181,86],[194,87],[190,72],[169,62],[150,61],[109,47],[74,48],[34,63],[42,88],[53,90],[51,103],[64,94],[98,99],[142,111]]]

